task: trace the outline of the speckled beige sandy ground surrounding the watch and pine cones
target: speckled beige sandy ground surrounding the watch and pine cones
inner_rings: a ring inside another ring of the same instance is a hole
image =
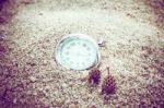
[[[1,108],[163,108],[163,0],[17,0],[1,3]],[[103,37],[102,80],[117,91],[104,100],[90,91],[89,71],[69,71],[54,59],[65,35]]]

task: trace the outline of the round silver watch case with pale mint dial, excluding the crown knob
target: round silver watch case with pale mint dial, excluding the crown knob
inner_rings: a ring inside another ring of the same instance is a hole
[[[99,61],[98,46],[90,36],[68,35],[57,46],[56,59],[67,69],[90,69]]]

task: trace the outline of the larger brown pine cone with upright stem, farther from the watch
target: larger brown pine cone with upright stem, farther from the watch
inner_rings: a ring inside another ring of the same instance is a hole
[[[116,82],[112,75],[104,79],[102,84],[102,94],[109,95],[116,92]]]

